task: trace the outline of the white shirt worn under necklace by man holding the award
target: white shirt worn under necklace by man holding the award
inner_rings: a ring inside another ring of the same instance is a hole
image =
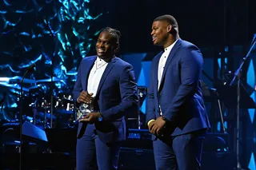
[[[94,62],[93,68],[90,70],[90,74],[87,81],[87,92],[94,93],[92,97],[96,96],[99,81],[102,79],[102,75],[106,69],[108,63],[99,57]]]

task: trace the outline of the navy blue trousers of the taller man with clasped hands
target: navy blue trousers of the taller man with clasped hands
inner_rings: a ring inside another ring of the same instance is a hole
[[[202,133],[159,138],[153,141],[156,170],[200,170]]]

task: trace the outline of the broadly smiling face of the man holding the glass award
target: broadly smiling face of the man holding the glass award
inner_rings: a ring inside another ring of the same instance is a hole
[[[114,37],[107,31],[102,31],[98,36],[96,42],[96,51],[98,57],[102,59],[111,58],[114,56],[117,43],[114,41]]]

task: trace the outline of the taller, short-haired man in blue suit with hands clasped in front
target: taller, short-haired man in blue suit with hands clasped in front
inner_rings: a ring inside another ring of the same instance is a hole
[[[154,19],[154,45],[163,47],[150,69],[146,122],[158,170],[197,170],[210,123],[201,92],[202,53],[178,35],[171,15]]]

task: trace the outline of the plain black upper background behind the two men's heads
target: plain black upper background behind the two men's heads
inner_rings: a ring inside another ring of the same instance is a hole
[[[178,21],[181,38],[200,48],[248,45],[256,32],[256,2],[252,0],[110,0],[103,3],[97,2],[109,14],[99,19],[98,24],[121,31],[120,53],[155,51],[151,25],[154,18],[162,14],[172,14]]]

